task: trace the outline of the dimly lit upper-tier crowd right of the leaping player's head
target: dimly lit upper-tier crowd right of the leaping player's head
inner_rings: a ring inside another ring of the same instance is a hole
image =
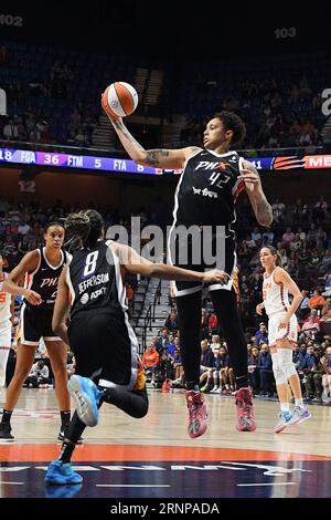
[[[215,111],[235,112],[247,126],[246,149],[291,148],[320,146],[322,91],[312,89],[307,75],[302,74],[297,84],[293,81],[259,79],[243,80],[241,86],[234,82],[234,95],[222,96],[216,82],[200,77],[197,96],[202,90],[214,87]],[[207,118],[189,118],[181,131],[183,146],[200,145]]]

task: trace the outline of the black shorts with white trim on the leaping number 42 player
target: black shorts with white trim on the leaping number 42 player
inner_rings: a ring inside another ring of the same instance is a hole
[[[236,264],[237,264],[237,256],[235,251],[235,240],[233,235],[228,238],[225,238],[223,242],[216,249],[216,239],[212,238],[209,243],[209,253],[210,259],[206,258],[204,251],[204,243],[201,239],[199,247],[196,247],[196,242],[188,241],[186,251],[184,254],[183,246],[180,240],[174,241],[174,247],[170,250],[168,247],[168,259],[172,266],[190,269],[192,271],[197,272],[205,272],[211,271],[213,269],[221,269],[225,271],[229,275],[229,280],[226,284],[222,285],[221,283],[213,283],[207,285],[210,291],[215,291],[217,289],[224,289],[231,291],[233,288],[234,278],[236,274]],[[206,248],[205,248],[206,249]],[[213,260],[214,258],[214,260]],[[206,262],[206,260],[209,260]],[[213,261],[211,261],[213,260]],[[200,282],[173,282],[173,290],[174,297],[183,297],[186,294],[192,294],[194,292],[201,291],[203,288],[203,283]]]

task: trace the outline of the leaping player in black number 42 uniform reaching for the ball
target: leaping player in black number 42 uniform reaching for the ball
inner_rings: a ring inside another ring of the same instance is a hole
[[[204,148],[188,147],[181,149],[145,150],[126,128],[121,118],[107,113],[122,146],[138,164],[157,168],[183,168],[180,177],[173,210],[172,237],[179,226],[207,226],[213,230],[213,246],[216,249],[216,228],[225,228],[225,247],[216,250],[216,257],[225,257],[224,270],[229,274],[227,284],[210,285],[215,313],[222,323],[228,346],[229,357],[236,377],[236,405],[238,430],[254,431],[256,422],[253,410],[252,393],[248,388],[247,349],[243,325],[239,319],[233,278],[236,267],[235,200],[242,189],[246,188],[257,221],[269,227],[273,211],[268,204],[257,170],[244,160],[236,152],[229,150],[233,145],[242,142],[245,125],[233,113],[216,114],[206,125],[203,134]],[[170,251],[169,257],[174,266],[182,266],[179,256],[179,240],[174,239],[177,253]],[[195,241],[192,241],[193,256]],[[202,251],[203,253],[203,251]],[[217,266],[220,263],[216,262]],[[185,264],[190,269],[204,271],[214,266]],[[207,427],[206,405],[199,391],[200,370],[200,319],[202,284],[199,282],[177,282],[175,297],[181,335],[181,353],[186,379],[186,404],[189,408],[189,435],[199,437]]]

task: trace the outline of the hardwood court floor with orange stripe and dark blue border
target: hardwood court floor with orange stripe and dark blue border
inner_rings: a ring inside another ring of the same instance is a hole
[[[73,458],[83,486],[45,488],[44,470],[60,447],[55,393],[23,389],[15,439],[0,443],[0,497],[331,496],[331,407],[310,406],[311,419],[276,435],[277,403],[256,398],[257,430],[238,433],[234,398],[207,395],[209,429],[190,439],[183,393],[150,389],[149,397],[143,419],[104,405]]]

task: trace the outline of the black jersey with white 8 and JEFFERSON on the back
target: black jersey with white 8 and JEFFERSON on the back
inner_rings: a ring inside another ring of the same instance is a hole
[[[82,311],[108,309],[122,311],[125,288],[116,254],[99,240],[92,249],[75,251],[67,270],[71,290],[71,318]]]

